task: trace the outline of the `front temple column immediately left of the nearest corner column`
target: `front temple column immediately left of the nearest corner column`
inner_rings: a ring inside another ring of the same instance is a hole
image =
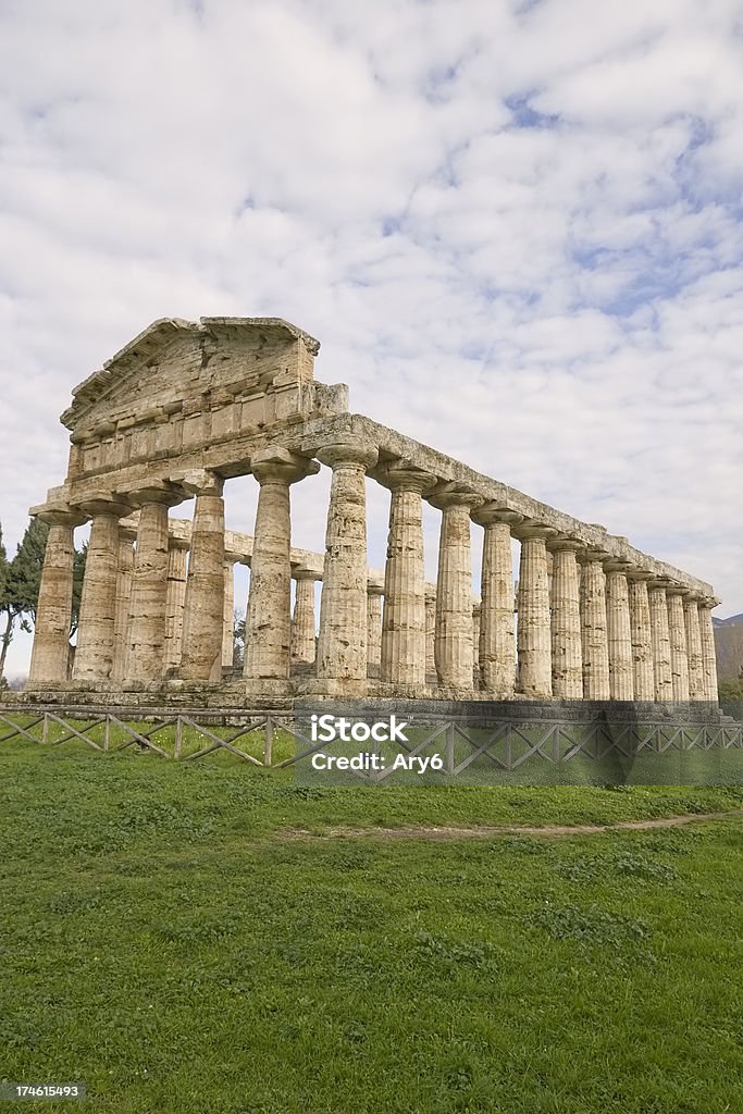
[[[245,619],[244,674],[252,688],[289,681],[292,659],[292,520],[289,489],[320,470],[307,457],[278,446],[251,461],[261,485]],[[364,631],[365,634],[365,631]]]

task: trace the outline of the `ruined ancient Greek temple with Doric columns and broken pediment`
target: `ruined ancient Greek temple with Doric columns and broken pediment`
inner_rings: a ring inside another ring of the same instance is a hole
[[[314,379],[319,349],[278,317],[166,319],[74,390],[67,478],[31,508],[49,535],[29,690],[716,703],[711,585],[350,413],[345,385]],[[291,488],[322,466],[313,554],[292,546]],[[247,475],[252,536],[224,526],[225,483]],[[368,481],[390,500],[379,571]],[[172,514],[192,499],[193,520]],[[436,584],[423,500],[440,511]],[[74,530],[88,520],[70,668]],[[237,563],[251,570],[239,675]]]

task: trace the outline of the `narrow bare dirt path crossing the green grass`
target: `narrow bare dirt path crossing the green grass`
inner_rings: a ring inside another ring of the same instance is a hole
[[[661,817],[656,820],[620,820],[615,824],[544,824],[541,828],[521,824],[493,824],[477,828],[325,828],[322,832],[301,828],[284,829],[285,839],[488,839],[491,836],[592,836],[596,832],[647,831],[653,828],[678,828],[702,820],[732,820],[743,817],[743,809],[730,812],[692,812],[683,817]]]

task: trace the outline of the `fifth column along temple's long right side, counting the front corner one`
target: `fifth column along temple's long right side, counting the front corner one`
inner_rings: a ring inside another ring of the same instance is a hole
[[[521,543],[518,579],[518,692],[534,698],[551,696],[551,622],[547,538],[557,531],[527,519],[514,534]]]

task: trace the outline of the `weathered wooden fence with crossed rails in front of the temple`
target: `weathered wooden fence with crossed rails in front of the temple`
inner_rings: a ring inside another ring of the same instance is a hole
[[[476,768],[490,769],[493,775],[515,772],[530,761],[557,766],[580,758],[598,765],[610,758],[630,761],[649,753],[743,749],[743,725],[732,722],[530,719],[524,707],[502,720],[446,714],[412,716],[411,721],[412,737],[395,744],[398,750],[416,756],[437,747],[442,752],[444,772],[454,778],[471,774]],[[12,739],[48,747],[77,741],[104,753],[131,749],[187,762],[224,751],[251,765],[274,770],[306,766],[317,752],[332,751],[332,744],[311,740],[306,716],[268,709],[0,706],[0,745]],[[379,753],[378,744],[375,749]],[[360,776],[384,781],[390,772]]]

